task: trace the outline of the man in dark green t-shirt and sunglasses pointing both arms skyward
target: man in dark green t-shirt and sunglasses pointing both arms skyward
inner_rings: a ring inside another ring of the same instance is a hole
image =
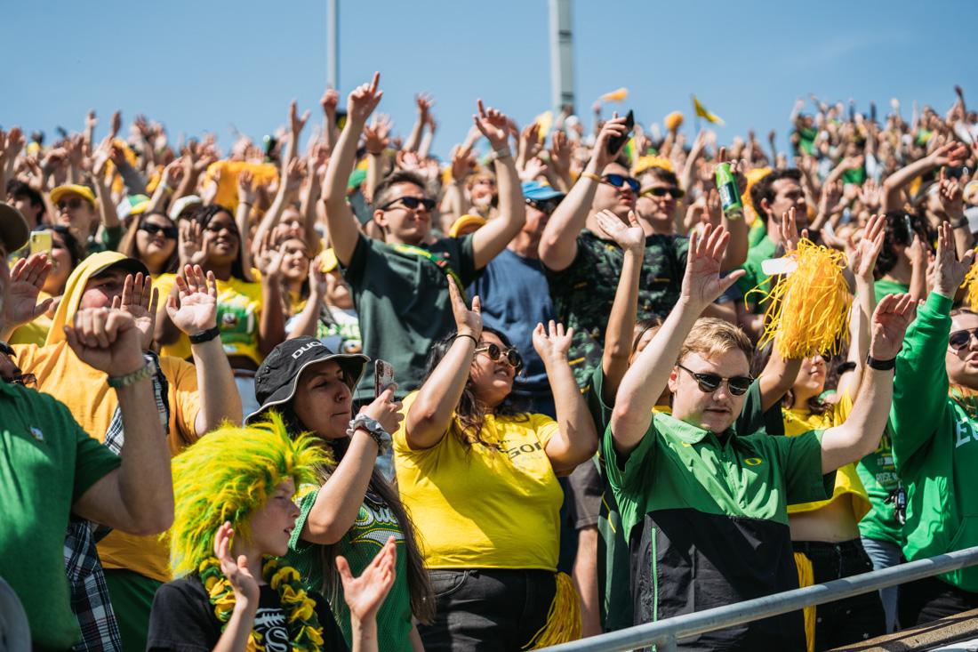
[[[428,350],[454,327],[448,284],[467,287],[519,233],[526,209],[510,152],[507,118],[485,110],[479,101],[474,121],[493,148],[499,216],[463,238],[436,240],[430,233],[435,203],[427,196],[423,179],[398,171],[374,191],[373,219],[383,232],[383,242],[362,233],[346,203],[346,185],[360,134],[382,95],[378,81],[376,73],[371,83],[350,93],[346,124],[327,166],[323,201],[330,244],[360,315],[363,350],[393,364],[400,398],[421,386]],[[373,396],[372,379],[365,378],[354,400]]]

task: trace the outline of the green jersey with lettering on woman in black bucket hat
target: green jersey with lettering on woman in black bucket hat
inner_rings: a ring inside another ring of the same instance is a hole
[[[350,610],[343,599],[342,584],[336,579],[335,589],[324,586],[323,564],[333,563],[323,557],[324,546],[309,543],[299,536],[305,527],[309,512],[319,495],[317,487],[299,489],[299,514],[295,529],[289,540],[289,554],[286,559],[302,578],[306,588],[321,591],[330,602],[336,623],[343,630],[346,644],[351,648]],[[336,554],[342,555],[350,564],[353,577],[360,577],[364,569],[374,561],[374,557],[393,536],[397,544],[396,578],[390,593],[384,599],[377,614],[378,645],[381,650],[411,652],[411,594],[408,589],[408,553],[404,544],[404,532],[387,503],[371,489],[367,489],[363,504],[357,514],[353,527],[336,543]]]

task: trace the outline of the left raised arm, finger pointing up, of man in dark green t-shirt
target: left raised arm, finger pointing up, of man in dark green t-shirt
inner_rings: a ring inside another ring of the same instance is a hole
[[[326,168],[326,222],[330,232],[330,245],[340,264],[348,265],[360,239],[360,222],[346,203],[346,183],[353,171],[357,153],[357,141],[367,118],[377,108],[383,91],[378,90],[380,73],[374,73],[369,84],[362,84],[350,93],[347,100],[346,126],[339,134],[336,149]]]

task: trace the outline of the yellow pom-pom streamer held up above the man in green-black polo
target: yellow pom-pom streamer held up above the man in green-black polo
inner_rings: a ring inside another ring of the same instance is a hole
[[[790,256],[797,268],[781,276],[761,302],[769,304],[759,345],[775,340],[778,353],[784,358],[838,353],[849,339],[849,309],[853,302],[842,275],[845,256],[807,239],[799,242]]]

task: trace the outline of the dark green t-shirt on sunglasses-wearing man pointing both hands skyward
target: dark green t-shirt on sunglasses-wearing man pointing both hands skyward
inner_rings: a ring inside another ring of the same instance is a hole
[[[431,345],[455,330],[449,269],[463,288],[476,275],[471,235],[442,238],[425,250],[436,260],[361,235],[342,270],[360,317],[363,352],[394,366],[398,398],[421,387]],[[373,397],[374,377],[365,374],[354,399]]]

